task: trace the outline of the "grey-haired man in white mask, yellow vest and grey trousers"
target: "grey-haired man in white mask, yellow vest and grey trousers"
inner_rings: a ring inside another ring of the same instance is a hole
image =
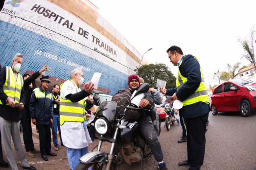
[[[19,135],[19,109],[24,108],[24,105],[20,102],[21,98],[24,97],[21,96],[23,79],[19,73],[22,61],[23,55],[17,53],[13,57],[12,66],[4,67],[0,72],[0,129],[4,150],[11,168],[18,170],[11,148],[12,137],[22,168],[35,170],[36,168],[30,166],[25,158]]]

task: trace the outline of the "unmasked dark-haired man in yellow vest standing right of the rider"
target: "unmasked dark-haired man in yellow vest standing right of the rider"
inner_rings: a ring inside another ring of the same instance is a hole
[[[205,157],[206,122],[210,112],[203,73],[198,59],[183,55],[181,48],[171,46],[167,53],[173,65],[178,66],[176,88],[160,88],[160,91],[172,95],[171,99],[178,103],[183,102],[179,114],[186,119],[187,128],[188,160],[179,162],[179,166],[189,165],[190,170],[199,170]]]

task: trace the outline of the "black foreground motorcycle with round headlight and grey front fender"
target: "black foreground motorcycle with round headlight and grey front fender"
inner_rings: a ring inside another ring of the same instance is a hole
[[[95,130],[101,135],[97,151],[83,155],[75,170],[115,170],[123,161],[131,164],[152,155],[149,145],[140,133],[138,122],[124,119],[129,110],[139,111],[141,114],[149,111],[134,104],[141,101],[143,93],[148,90],[148,83],[139,87],[131,97],[131,104],[119,113],[116,113],[117,102],[102,102],[96,111],[94,123]],[[112,144],[109,153],[100,151],[102,142],[105,141]]]

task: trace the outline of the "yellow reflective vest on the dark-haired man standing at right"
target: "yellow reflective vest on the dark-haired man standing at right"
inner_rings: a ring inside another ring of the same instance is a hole
[[[182,61],[183,59],[186,57],[186,55],[181,59],[181,62],[179,64],[179,67],[181,66],[182,64]],[[198,61],[198,59],[195,57],[195,59]],[[203,79],[203,74],[202,74],[202,70],[201,70],[201,67],[200,67],[200,73],[201,73],[201,83],[200,83],[200,86],[198,87],[198,89],[196,89],[196,91],[191,94],[188,98],[186,98],[183,103],[184,103],[184,106],[185,105],[191,105],[191,104],[194,104],[196,102],[204,102],[204,103],[210,103],[209,101],[209,97],[208,97],[208,91],[207,91],[207,88],[206,88],[206,85],[205,85],[205,80]],[[179,88],[181,88],[183,86],[183,84],[185,84],[186,82],[188,81],[188,78],[187,77],[183,77],[181,75],[181,72],[179,71],[179,68],[178,68],[178,76],[177,76],[177,79],[176,79],[176,87],[177,87],[177,91],[179,90]]]

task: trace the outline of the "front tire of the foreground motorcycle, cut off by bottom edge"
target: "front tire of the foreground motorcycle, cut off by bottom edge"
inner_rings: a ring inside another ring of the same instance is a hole
[[[115,166],[114,163],[111,163],[110,165],[110,170],[115,170],[117,167]],[[76,167],[75,170],[104,170],[106,169],[106,166],[101,163],[101,162],[95,162],[95,163],[89,163],[89,164],[84,164],[84,163],[79,163]]]

